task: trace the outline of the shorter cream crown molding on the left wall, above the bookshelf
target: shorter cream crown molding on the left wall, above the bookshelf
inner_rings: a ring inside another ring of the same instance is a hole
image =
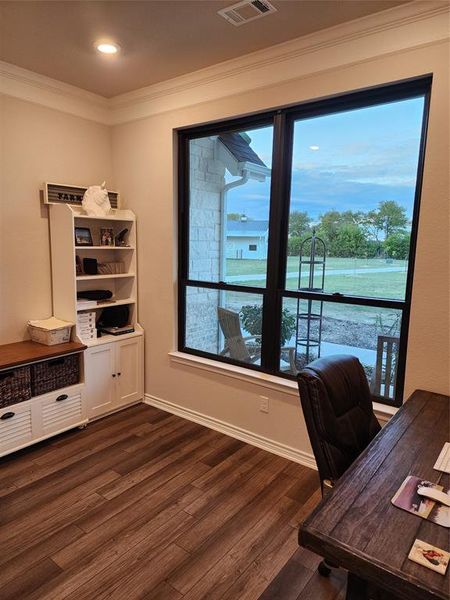
[[[108,99],[0,61],[0,93],[90,121],[110,124]]]

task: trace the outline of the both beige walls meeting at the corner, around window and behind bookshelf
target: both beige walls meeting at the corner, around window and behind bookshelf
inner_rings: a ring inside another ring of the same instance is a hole
[[[51,312],[47,211],[38,196],[42,183],[90,184],[106,178],[138,217],[146,393],[309,452],[295,394],[177,365],[169,358],[176,349],[174,129],[432,72],[406,395],[417,387],[450,393],[448,55],[443,44],[424,46],[234,96],[230,80],[224,80],[223,99],[112,130],[0,96],[0,343],[23,339],[27,319]],[[268,415],[258,410],[260,394],[270,397]]]

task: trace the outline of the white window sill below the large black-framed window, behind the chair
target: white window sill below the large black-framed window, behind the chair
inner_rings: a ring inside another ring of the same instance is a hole
[[[252,371],[244,367],[237,367],[208,358],[194,356],[193,354],[187,354],[186,352],[169,352],[169,357],[174,364],[200,369],[201,371],[223,375],[224,377],[230,377],[232,379],[239,379],[245,383],[252,383],[259,387],[268,388],[298,398],[297,383],[295,381],[290,381],[289,379],[284,379],[283,377],[276,377],[275,375]],[[398,408],[395,406],[387,406],[378,402],[373,403],[373,408],[377,419],[382,422],[382,424],[389,421],[389,419],[398,411]]]

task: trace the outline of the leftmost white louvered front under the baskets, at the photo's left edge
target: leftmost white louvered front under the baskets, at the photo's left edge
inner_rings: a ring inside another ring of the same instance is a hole
[[[32,439],[31,402],[0,410],[0,456],[26,446]]]

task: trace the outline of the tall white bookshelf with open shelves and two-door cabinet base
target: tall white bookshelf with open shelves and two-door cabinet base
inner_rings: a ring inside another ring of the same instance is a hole
[[[63,186],[64,187],[64,186]],[[123,335],[102,335],[83,339],[73,328],[73,340],[88,348],[84,352],[84,391],[87,416],[95,419],[142,400],[144,395],[144,331],[138,323],[136,218],[129,210],[114,209],[107,217],[84,214],[81,207],[50,205],[53,314],[77,323],[78,315],[96,313],[96,321],[106,307],[129,307],[129,325],[134,331]],[[75,227],[89,228],[92,246],[75,243]],[[100,229],[110,228],[116,236],[123,229],[126,246],[102,246]],[[76,257],[95,258],[98,263],[122,262],[123,272],[77,275]],[[77,305],[77,293],[109,290],[112,298],[95,305]]]

